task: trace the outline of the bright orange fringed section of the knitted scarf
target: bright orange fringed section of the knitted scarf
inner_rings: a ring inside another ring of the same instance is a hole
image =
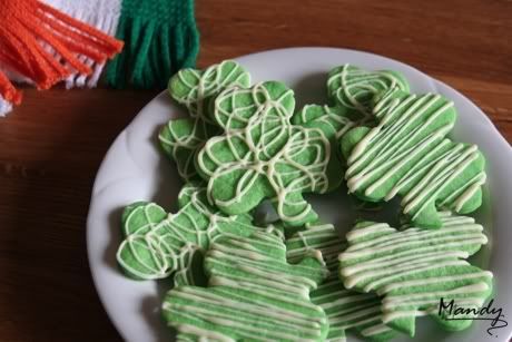
[[[102,63],[122,49],[119,41],[38,0],[1,0],[0,62],[48,89],[75,72],[92,70],[79,57]],[[21,94],[0,71],[0,95],[19,104]]]

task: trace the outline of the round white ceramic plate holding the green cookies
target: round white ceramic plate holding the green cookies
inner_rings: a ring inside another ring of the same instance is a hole
[[[297,108],[306,102],[325,102],[326,72],[338,65],[353,63],[367,69],[392,69],[405,75],[412,91],[434,91],[452,99],[459,110],[453,136],[460,141],[480,146],[488,160],[488,196],[485,205],[475,213],[485,225],[490,244],[476,263],[488,266],[495,275],[494,306],[501,306],[509,326],[486,332],[489,322],[475,322],[460,333],[443,333],[433,328],[432,320],[419,319],[417,341],[508,341],[512,331],[512,149],[488,117],[467,98],[421,71],[395,60],[343,49],[296,48],[266,51],[236,59],[253,76],[253,81],[280,80],[295,89]],[[135,201],[155,201],[174,208],[180,180],[175,167],[157,148],[157,131],[170,118],[183,111],[163,92],[150,101],[117,137],[98,172],[87,222],[87,246],[96,289],[117,330],[127,341],[151,342],[171,340],[160,321],[160,297],[168,282],[137,282],[125,277],[116,264],[120,243],[120,214]],[[489,195],[491,194],[491,195]],[[343,209],[343,190],[312,198],[326,222],[347,229],[353,218]],[[491,205],[492,203],[492,205]],[[357,341],[356,338],[353,338]],[[396,339],[408,341],[408,339]]]

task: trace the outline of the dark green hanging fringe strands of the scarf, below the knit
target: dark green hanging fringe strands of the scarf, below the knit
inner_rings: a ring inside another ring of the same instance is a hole
[[[114,88],[164,89],[175,72],[195,66],[199,50],[194,21],[173,26],[121,16],[117,38],[126,49],[106,69],[106,82]]]

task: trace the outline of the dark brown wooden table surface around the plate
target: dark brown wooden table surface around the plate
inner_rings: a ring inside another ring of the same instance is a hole
[[[329,46],[384,55],[475,101],[512,141],[512,1],[200,0],[200,67]],[[101,159],[155,95],[24,91],[0,119],[0,341],[120,341],[97,297],[86,215]]]

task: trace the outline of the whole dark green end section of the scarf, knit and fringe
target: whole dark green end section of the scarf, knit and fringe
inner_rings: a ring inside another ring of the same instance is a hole
[[[194,67],[199,32],[194,0],[124,0],[116,37],[125,49],[107,65],[115,88],[165,88],[179,69]]]

